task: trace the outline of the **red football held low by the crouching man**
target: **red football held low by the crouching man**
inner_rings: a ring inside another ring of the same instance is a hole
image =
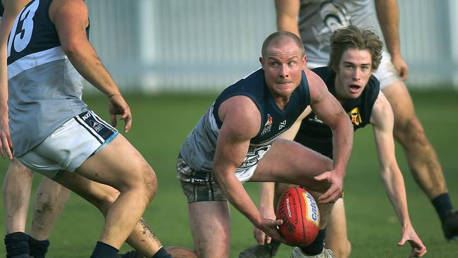
[[[304,247],[315,240],[320,212],[307,190],[297,186],[287,188],[278,199],[276,215],[283,220],[278,231],[287,240],[287,245]]]

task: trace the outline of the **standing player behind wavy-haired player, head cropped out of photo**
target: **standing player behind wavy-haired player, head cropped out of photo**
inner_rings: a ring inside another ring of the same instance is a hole
[[[438,156],[416,117],[414,104],[404,85],[408,68],[400,53],[397,1],[276,0],[275,4],[278,30],[300,35],[309,68],[326,66],[330,54],[329,37],[339,27],[352,24],[370,28],[379,37],[384,37],[386,48],[374,75],[380,80],[380,90],[395,116],[395,139],[404,148],[416,183],[431,199],[445,238],[458,238],[458,211],[450,202]]]

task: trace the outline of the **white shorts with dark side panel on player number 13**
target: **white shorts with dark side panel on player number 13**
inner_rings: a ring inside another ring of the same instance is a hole
[[[118,130],[93,111],[80,113],[63,123],[19,161],[28,168],[56,180],[63,171],[75,171],[118,135]]]

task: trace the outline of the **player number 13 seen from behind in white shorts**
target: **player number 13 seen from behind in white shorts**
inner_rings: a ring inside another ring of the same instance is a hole
[[[129,106],[87,40],[84,1],[30,1],[19,17],[8,41],[9,89],[2,88],[1,105],[8,100],[8,114],[1,113],[1,121],[9,118],[11,126],[10,140],[8,123],[2,124],[4,147],[6,140],[21,163],[86,199],[94,201],[97,194],[112,197],[92,202],[106,217],[92,257],[116,257],[128,236],[138,240],[139,235],[155,240],[147,247],[151,257],[170,257],[154,234],[145,233],[138,223],[156,192],[154,171],[81,100],[83,76],[109,97],[113,125],[120,115],[124,130],[130,129]],[[120,164],[120,155],[129,156],[128,162]]]

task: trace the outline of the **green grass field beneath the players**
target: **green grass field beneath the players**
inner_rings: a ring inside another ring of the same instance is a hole
[[[125,136],[154,167],[159,179],[159,192],[144,218],[163,245],[192,248],[187,204],[175,179],[175,159],[182,140],[214,97],[213,94],[126,97],[133,113],[133,126]],[[452,201],[458,207],[458,92],[413,92],[412,97],[417,114],[442,162]],[[100,116],[108,118],[104,97],[89,96],[86,102]],[[458,257],[458,241],[445,242],[438,216],[426,195],[414,183],[400,146],[397,146],[397,157],[404,172],[411,221],[428,248],[426,257]],[[1,161],[0,171],[6,171],[7,166],[8,161]],[[40,177],[35,176],[35,188]],[[245,188],[257,202],[257,184],[247,183]],[[345,202],[352,257],[408,256],[409,247],[397,247],[400,224],[378,176],[376,149],[369,127],[359,130],[355,135],[354,152],[345,181]],[[1,211],[2,208],[0,213],[3,214]],[[31,219],[29,216],[29,224]],[[70,195],[51,234],[47,257],[89,257],[99,238],[102,223],[103,217],[99,211],[77,195]],[[2,237],[4,228],[2,218]],[[230,257],[237,257],[238,252],[254,244],[252,224],[235,209],[232,210],[232,235]],[[0,257],[4,257],[4,245],[0,246]],[[129,249],[127,245],[123,247],[124,251]],[[292,247],[280,247],[277,257],[289,257],[291,250]]]

